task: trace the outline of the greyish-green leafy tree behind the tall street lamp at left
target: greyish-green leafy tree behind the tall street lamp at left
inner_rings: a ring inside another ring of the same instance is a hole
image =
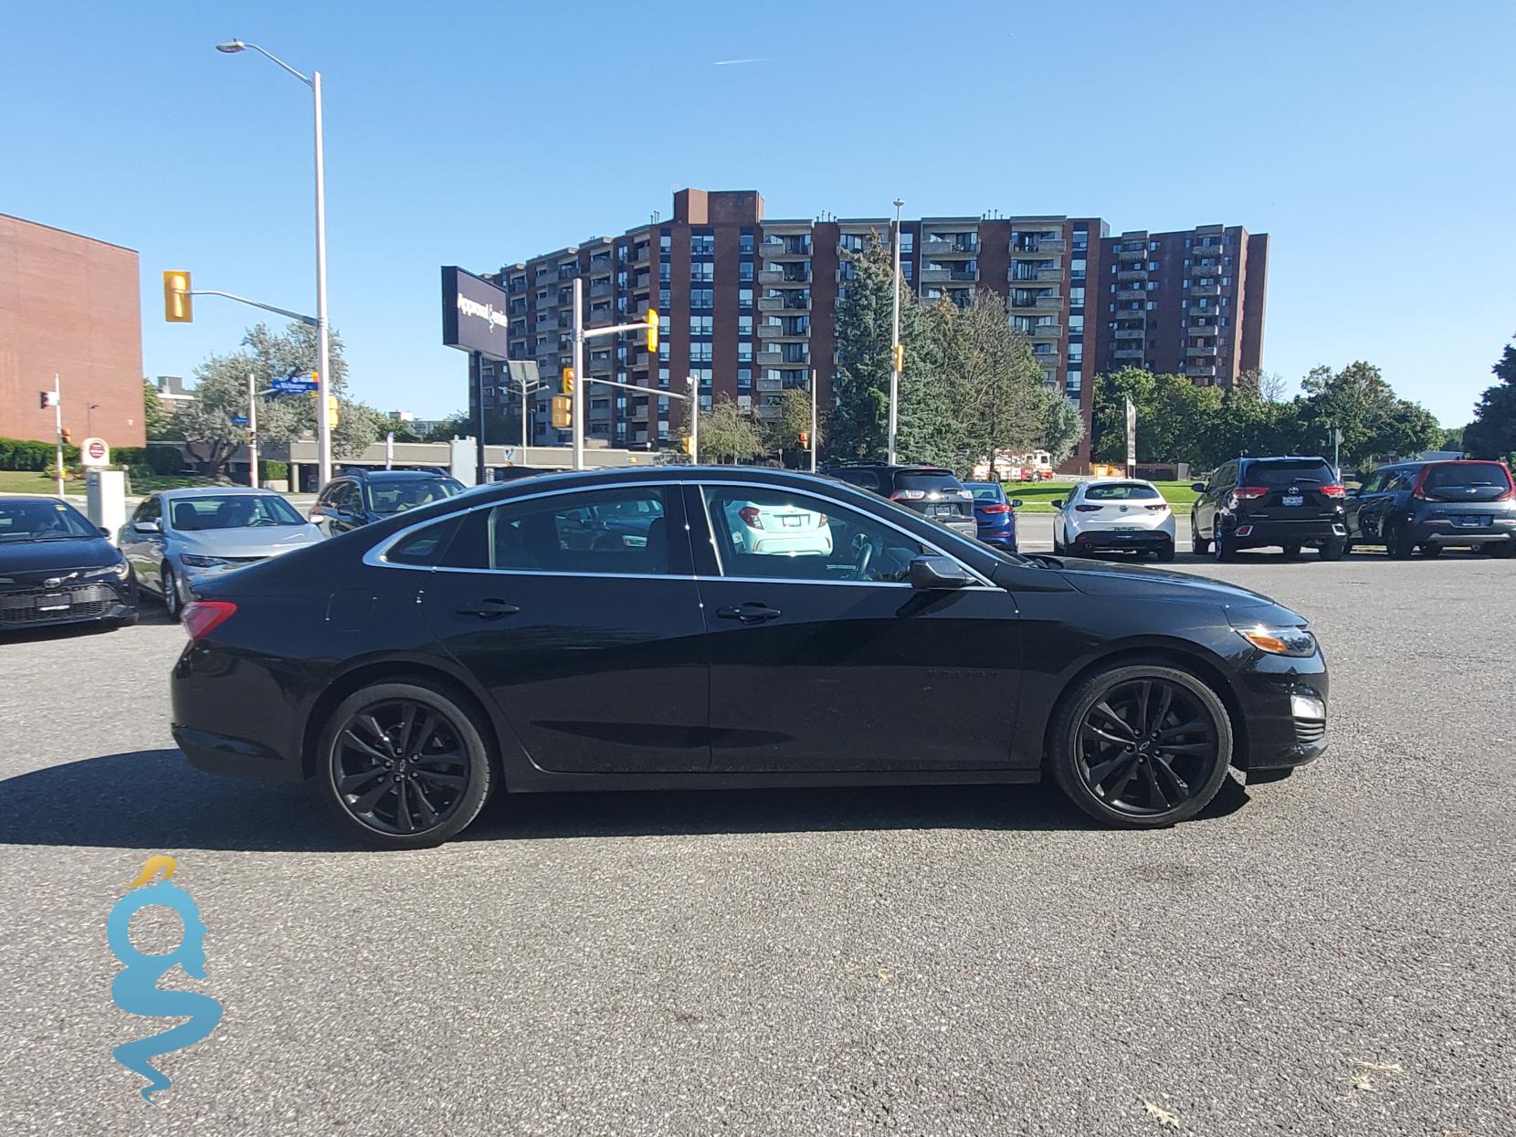
[[[255,324],[243,337],[243,350],[212,355],[196,368],[194,402],[177,415],[190,458],[200,471],[217,476],[240,446],[247,428],[233,421],[247,415],[247,376],[258,390],[274,379],[311,371],[317,361],[315,329],[293,323],[283,335]],[[330,337],[330,391],[338,397],[338,426],[332,431],[332,453],[338,458],[362,453],[379,437],[379,412],[347,399],[347,362],[343,341]],[[258,397],[258,438],[265,444],[288,444],[315,434],[315,399],[308,394],[262,394]]]

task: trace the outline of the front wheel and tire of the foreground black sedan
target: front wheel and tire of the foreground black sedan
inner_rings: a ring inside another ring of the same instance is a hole
[[[1155,729],[1148,720],[1160,711],[1158,722],[1170,726]],[[1069,800],[1096,820],[1132,829],[1195,817],[1225,784],[1233,758],[1231,717],[1216,691],[1157,661],[1079,681],[1058,702],[1049,738],[1046,764]]]

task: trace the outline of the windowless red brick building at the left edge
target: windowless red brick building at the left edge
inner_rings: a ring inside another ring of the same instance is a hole
[[[74,441],[144,444],[138,280],[130,249],[0,214],[0,437],[53,440],[56,371]]]

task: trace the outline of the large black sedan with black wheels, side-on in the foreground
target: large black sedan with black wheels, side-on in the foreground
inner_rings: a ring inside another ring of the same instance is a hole
[[[814,514],[807,552],[752,552],[732,522]],[[190,761],[312,779],[388,847],[456,835],[497,788],[1051,776],[1161,826],[1228,767],[1326,744],[1326,664],[1267,597],[1001,552],[781,470],[478,490],[208,581],[183,622]]]

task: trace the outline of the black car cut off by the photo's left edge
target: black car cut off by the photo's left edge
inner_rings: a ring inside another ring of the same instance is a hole
[[[136,623],[132,567],[68,502],[0,497],[0,631]]]

